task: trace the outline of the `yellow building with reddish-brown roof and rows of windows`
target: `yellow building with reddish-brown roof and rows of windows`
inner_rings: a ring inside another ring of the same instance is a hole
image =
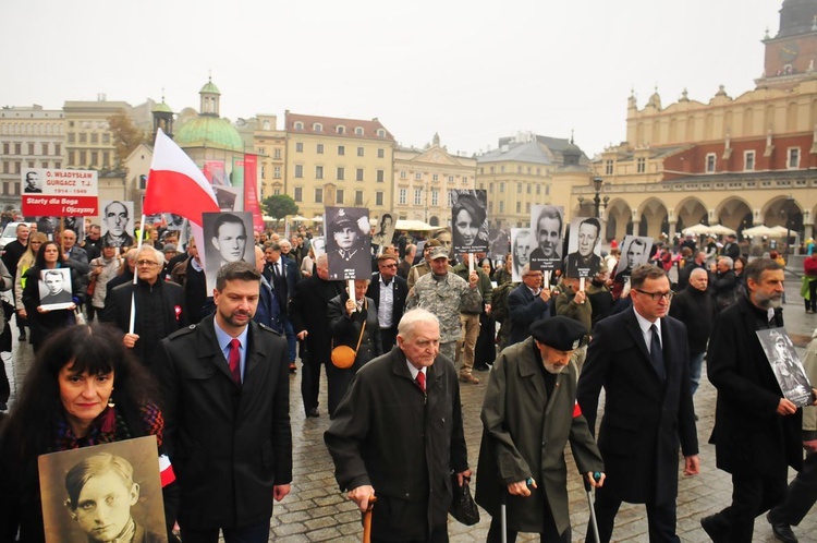
[[[392,212],[394,137],[370,121],[285,114],[285,193],[304,217],[325,206],[367,207],[371,218]]]

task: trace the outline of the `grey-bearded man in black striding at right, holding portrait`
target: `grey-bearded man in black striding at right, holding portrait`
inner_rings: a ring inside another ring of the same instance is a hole
[[[789,466],[803,468],[803,411],[783,397],[756,334],[783,326],[783,267],[757,258],[743,275],[748,295],[715,319],[706,357],[718,389],[709,441],[718,468],[732,475],[732,504],[700,524],[712,541],[748,543],[755,517],[785,498]],[[796,541],[788,526],[769,520],[778,539]]]

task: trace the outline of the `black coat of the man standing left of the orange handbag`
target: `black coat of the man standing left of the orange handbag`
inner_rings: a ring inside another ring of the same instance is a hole
[[[329,362],[329,345],[332,336],[329,331],[327,306],[329,300],[343,292],[342,281],[325,281],[317,274],[295,285],[295,292],[290,298],[289,316],[295,335],[303,330],[306,336],[306,348],[309,359],[316,364]]]

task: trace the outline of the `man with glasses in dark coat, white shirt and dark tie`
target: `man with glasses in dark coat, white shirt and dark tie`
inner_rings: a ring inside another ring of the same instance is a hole
[[[576,398],[592,430],[601,387],[607,398],[598,433],[607,471],[596,492],[599,536],[610,541],[629,502],[646,504],[650,542],[678,542],[679,441],[684,474],[699,470],[686,328],[667,316],[672,291],[662,268],[638,266],[631,285],[632,309],[598,322],[578,378]]]

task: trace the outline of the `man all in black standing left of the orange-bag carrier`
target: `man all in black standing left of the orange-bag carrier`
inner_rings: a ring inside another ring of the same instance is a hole
[[[318,390],[320,364],[331,363],[332,336],[329,331],[327,305],[329,300],[344,291],[343,281],[329,280],[329,262],[326,254],[316,260],[317,274],[295,285],[290,299],[289,316],[295,337],[306,343],[306,358],[301,376],[301,396],[307,417],[319,417]]]

